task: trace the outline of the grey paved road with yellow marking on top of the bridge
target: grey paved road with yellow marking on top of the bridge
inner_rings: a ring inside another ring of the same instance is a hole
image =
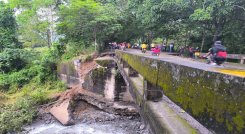
[[[161,53],[159,56],[152,56],[150,51],[147,51],[146,53],[142,53],[138,49],[127,49],[125,52],[148,57],[148,58],[158,59],[161,61],[167,61],[183,66],[188,66],[192,68],[198,68],[205,71],[219,72],[219,73],[245,78],[245,65],[241,65],[241,64],[225,63],[224,65],[217,66],[217,65],[209,65],[206,64],[205,62],[193,60],[190,58],[168,55],[168,53]]]

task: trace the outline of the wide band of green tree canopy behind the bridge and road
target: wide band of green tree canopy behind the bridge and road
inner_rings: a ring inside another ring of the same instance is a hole
[[[243,0],[10,0],[24,46],[100,47],[109,41],[173,40],[206,51],[221,40],[244,53]],[[46,19],[43,19],[45,18]],[[30,36],[31,35],[31,36]],[[73,44],[73,45],[72,45]]]

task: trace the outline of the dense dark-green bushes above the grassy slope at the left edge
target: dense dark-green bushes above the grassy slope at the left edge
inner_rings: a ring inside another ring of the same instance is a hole
[[[20,88],[33,78],[38,83],[55,81],[57,79],[56,62],[59,60],[62,51],[62,46],[55,45],[54,48],[42,52],[42,57],[40,57],[36,52],[6,49],[7,56],[5,58],[1,58],[1,55],[4,57],[3,55],[6,53],[0,54],[0,70],[2,67],[2,72],[5,72],[0,74],[0,90],[7,91],[11,85],[17,85]],[[19,58],[16,55],[19,55]],[[25,65],[21,63],[25,63]],[[15,67],[18,66],[15,64],[21,65],[21,67]]]

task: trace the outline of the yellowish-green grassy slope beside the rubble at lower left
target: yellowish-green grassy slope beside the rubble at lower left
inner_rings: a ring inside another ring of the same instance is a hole
[[[31,81],[21,89],[0,93],[0,133],[21,131],[37,115],[36,107],[48,103],[53,94],[63,92],[65,84],[50,81],[43,85]]]

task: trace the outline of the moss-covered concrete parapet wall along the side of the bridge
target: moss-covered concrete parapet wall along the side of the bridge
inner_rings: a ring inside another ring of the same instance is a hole
[[[146,80],[216,133],[245,133],[245,78],[116,52]]]

